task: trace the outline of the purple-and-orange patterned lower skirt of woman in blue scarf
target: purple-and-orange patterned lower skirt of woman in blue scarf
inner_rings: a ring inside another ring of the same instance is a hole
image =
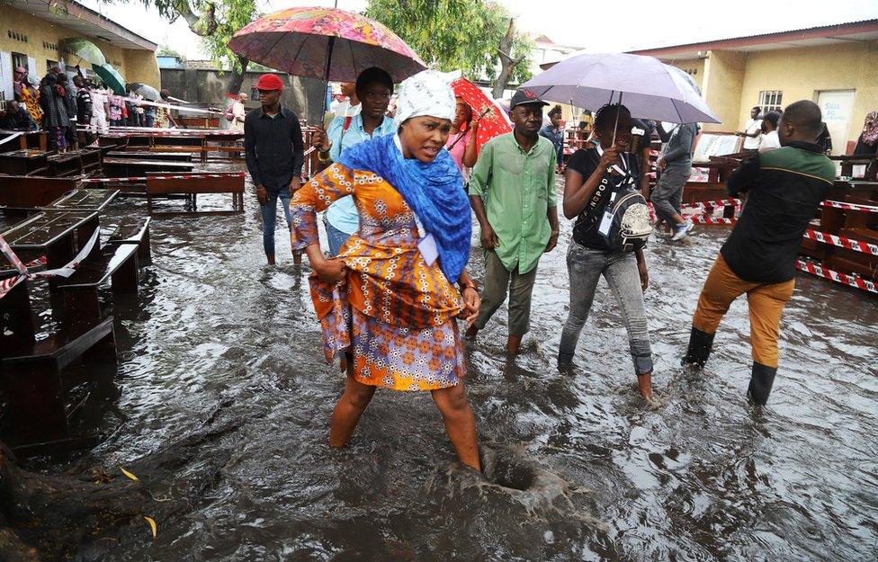
[[[435,390],[466,373],[457,321],[439,326],[391,326],[351,309],[354,379],[393,390]]]

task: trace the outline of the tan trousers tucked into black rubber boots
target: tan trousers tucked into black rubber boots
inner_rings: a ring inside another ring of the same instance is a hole
[[[793,296],[794,288],[794,279],[783,283],[744,281],[729,269],[720,254],[713,263],[707,281],[704,281],[692,325],[707,334],[715,334],[732,301],[747,293],[753,361],[776,369],[781,315],[786,301]]]

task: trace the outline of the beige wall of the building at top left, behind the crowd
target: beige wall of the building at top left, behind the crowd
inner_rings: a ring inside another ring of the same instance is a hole
[[[10,37],[10,32],[26,36],[27,42]],[[113,67],[119,70],[127,82],[143,82],[158,88],[161,78],[158,73],[156,53],[146,49],[121,49],[107,41],[84,36],[78,31],[69,30],[47,20],[32,16],[0,2],[0,51],[22,53],[36,59],[36,68],[31,74],[42,77],[46,74],[47,60],[58,61],[64,58],[65,63],[74,66],[78,58],[69,57],[59,52],[63,39],[69,37],[85,37],[101,49],[103,56]],[[90,65],[83,65],[90,67]]]

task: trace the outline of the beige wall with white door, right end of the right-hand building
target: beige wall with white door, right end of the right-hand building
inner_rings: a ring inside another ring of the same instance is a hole
[[[847,138],[833,138],[833,146],[844,152],[845,141],[859,138],[866,113],[878,110],[878,41],[748,53],[737,129],[759,103],[759,93],[767,90],[782,91],[784,107],[799,100],[817,102],[820,91],[854,90]]]

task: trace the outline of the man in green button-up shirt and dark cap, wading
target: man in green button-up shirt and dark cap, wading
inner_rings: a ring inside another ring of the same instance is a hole
[[[530,329],[536,265],[558,244],[557,156],[551,141],[540,136],[542,108],[549,104],[530,90],[519,90],[509,105],[515,129],[482,147],[470,177],[470,203],[485,249],[485,289],[467,336],[488,324],[508,292],[506,351],[515,355]]]

